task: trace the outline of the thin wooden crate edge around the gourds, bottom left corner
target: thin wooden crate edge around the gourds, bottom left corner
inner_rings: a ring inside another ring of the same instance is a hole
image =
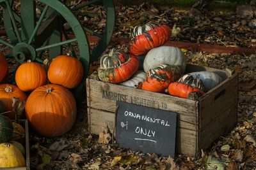
[[[25,129],[25,145],[26,145],[26,166],[24,167],[0,167],[0,170],[29,170],[30,169],[30,160],[29,160],[29,133],[28,133],[28,120],[19,120],[20,125]]]

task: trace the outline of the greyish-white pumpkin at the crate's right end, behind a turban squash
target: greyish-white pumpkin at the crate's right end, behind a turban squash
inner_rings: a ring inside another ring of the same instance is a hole
[[[199,78],[203,81],[206,92],[216,87],[216,85],[220,84],[222,81],[222,78],[217,73],[211,71],[198,71],[189,74],[193,76],[193,78]]]

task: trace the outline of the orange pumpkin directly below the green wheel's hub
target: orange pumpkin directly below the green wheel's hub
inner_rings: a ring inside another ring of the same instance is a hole
[[[15,81],[20,90],[32,91],[46,83],[46,71],[41,64],[28,60],[17,69]]]

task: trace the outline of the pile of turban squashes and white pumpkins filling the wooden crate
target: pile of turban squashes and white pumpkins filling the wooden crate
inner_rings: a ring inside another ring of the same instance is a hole
[[[111,49],[102,55],[100,80],[120,83],[151,92],[168,92],[172,96],[196,100],[222,80],[218,74],[201,71],[185,74],[186,57],[177,47],[164,46],[172,31],[168,25],[152,23],[136,26],[129,41],[129,54]],[[143,70],[138,71],[144,55]]]

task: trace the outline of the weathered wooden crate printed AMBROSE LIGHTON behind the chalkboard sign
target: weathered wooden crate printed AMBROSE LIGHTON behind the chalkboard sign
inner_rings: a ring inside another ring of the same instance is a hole
[[[197,157],[201,149],[209,148],[214,140],[230,132],[236,124],[238,75],[228,75],[223,70],[211,67],[187,64],[186,73],[193,71],[214,71],[224,81],[205,93],[200,101],[192,101],[168,94],[104,83],[99,81],[97,74],[92,74],[86,80],[90,132],[99,134],[104,127],[115,132],[117,100],[174,111],[178,113],[175,152]]]

